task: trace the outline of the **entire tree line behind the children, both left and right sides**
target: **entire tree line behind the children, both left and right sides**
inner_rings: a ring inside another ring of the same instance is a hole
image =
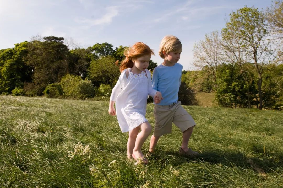
[[[264,11],[244,7],[221,32],[194,44],[195,71],[183,71],[179,96],[215,92],[219,106],[283,109],[283,1]],[[64,38],[37,37],[0,50],[0,94],[107,99],[126,46],[107,42],[70,49]],[[149,70],[157,63],[150,62]]]

